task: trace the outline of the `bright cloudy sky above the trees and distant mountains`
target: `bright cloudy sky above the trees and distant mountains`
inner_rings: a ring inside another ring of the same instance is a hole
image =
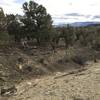
[[[22,4],[30,0],[0,0],[7,14],[23,14]],[[31,0],[32,1],[32,0]],[[100,21],[100,0],[34,0],[52,16],[54,24]]]

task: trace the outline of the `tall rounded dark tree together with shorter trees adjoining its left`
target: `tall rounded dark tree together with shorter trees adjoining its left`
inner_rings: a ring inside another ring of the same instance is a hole
[[[52,18],[45,7],[34,1],[23,4],[24,16],[6,15],[7,31],[15,41],[22,38],[35,38],[37,43],[48,42],[53,32]]]

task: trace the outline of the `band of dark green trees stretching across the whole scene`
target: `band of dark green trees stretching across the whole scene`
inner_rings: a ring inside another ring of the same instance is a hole
[[[1,40],[9,35],[17,42],[21,39],[35,39],[37,44],[49,44],[54,50],[61,39],[64,40],[66,48],[78,44],[100,50],[100,26],[75,28],[67,25],[54,28],[46,8],[34,1],[23,4],[23,16],[13,14],[5,16],[3,9],[0,9]]]

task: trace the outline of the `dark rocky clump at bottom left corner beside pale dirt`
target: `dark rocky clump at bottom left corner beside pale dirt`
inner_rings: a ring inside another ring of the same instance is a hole
[[[15,86],[1,88],[1,96],[14,95],[16,92],[17,92],[17,88]]]

